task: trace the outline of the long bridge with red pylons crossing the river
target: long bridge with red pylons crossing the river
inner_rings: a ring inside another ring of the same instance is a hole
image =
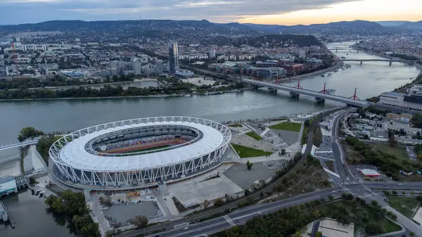
[[[273,89],[273,90],[288,91],[290,92],[290,94],[293,94],[293,95],[303,94],[305,96],[314,96],[315,98],[319,98],[321,100],[337,101],[340,103],[346,103],[347,105],[354,105],[357,107],[369,106],[368,102],[360,101],[359,98],[357,98],[356,89],[354,89],[354,96],[347,98],[343,96],[335,96],[331,94],[326,94],[325,89],[324,91],[311,91],[311,90],[303,89],[302,87],[300,87],[300,84],[298,84],[298,86],[296,87],[287,87],[280,84],[272,84],[269,82],[255,81],[252,79],[242,79],[242,82],[245,84],[255,86],[255,87],[268,87],[269,89]]]

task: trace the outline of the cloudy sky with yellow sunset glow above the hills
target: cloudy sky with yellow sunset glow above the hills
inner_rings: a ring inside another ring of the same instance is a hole
[[[0,25],[139,18],[282,25],[416,21],[422,20],[422,0],[0,0]]]

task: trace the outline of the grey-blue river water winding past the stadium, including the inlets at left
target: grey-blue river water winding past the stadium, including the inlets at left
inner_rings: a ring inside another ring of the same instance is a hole
[[[353,43],[334,43],[329,44],[328,48],[347,48]],[[348,49],[339,50],[336,54],[347,59],[380,58]],[[419,72],[415,66],[404,63],[392,63],[391,66],[388,62],[364,62],[363,65],[359,62],[350,62],[349,64],[352,65],[351,68],[340,69],[330,77],[315,76],[301,79],[300,86],[321,91],[326,82],[326,88],[335,88],[335,94],[339,96],[353,96],[354,88],[357,87],[357,96],[363,100],[411,82],[411,78],[416,77]],[[288,84],[294,86],[298,82]],[[324,105],[320,105],[314,103],[314,98],[311,97],[301,96],[299,99],[294,99],[289,98],[286,92],[279,91],[277,94],[272,94],[266,89],[213,96],[0,102],[0,144],[18,142],[16,138],[20,129],[28,126],[44,132],[67,132],[105,122],[165,115],[204,117],[222,122],[307,113],[335,105],[338,103],[326,101]],[[10,158],[17,153],[18,150],[15,149],[0,151],[0,177],[19,173],[18,161],[1,163],[2,159]],[[20,198],[20,196],[22,194],[10,203],[27,205],[24,203],[30,202],[33,198],[32,196]],[[42,204],[41,207],[45,208]],[[52,218],[45,212],[29,212],[28,215],[32,216],[32,221],[23,220],[22,224],[18,224],[17,229],[22,229],[23,225],[25,229],[29,226],[46,230],[56,228],[54,224],[51,224],[54,223]],[[29,226],[26,227],[26,225]],[[22,236],[17,230],[2,231],[1,229],[0,236],[3,237],[4,232],[6,232],[5,236]]]

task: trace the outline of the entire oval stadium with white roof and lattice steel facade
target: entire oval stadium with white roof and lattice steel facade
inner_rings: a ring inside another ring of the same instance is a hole
[[[69,186],[154,186],[219,165],[230,139],[230,130],[211,120],[148,117],[72,132],[49,155],[54,175]]]

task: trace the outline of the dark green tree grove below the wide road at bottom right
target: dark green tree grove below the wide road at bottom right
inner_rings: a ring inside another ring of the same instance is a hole
[[[342,203],[327,204],[328,206],[315,207],[324,203],[324,198],[314,200],[310,203],[301,204],[295,207],[281,209],[277,212],[255,217],[245,225],[234,226],[233,228],[215,234],[216,237],[260,237],[260,236],[302,236],[300,231],[303,227],[316,219],[330,217],[337,219],[341,224],[351,222],[364,231],[365,236],[385,233],[385,227],[379,221],[385,221],[385,215],[396,219],[395,214],[381,208],[374,200],[370,204],[362,198],[353,198],[352,195],[343,193],[342,198],[348,200]],[[354,200],[353,200],[354,199]],[[333,200],[331,197],[330,200]],[[316,233],[316,236],[322,236]]]

